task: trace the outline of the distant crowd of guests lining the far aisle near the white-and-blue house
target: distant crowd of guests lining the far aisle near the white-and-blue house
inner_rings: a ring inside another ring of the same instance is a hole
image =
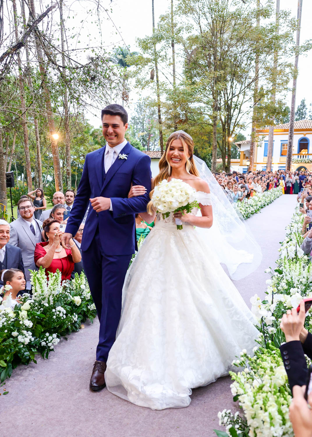
[[[263,193],[272,188],[282,187],[283,194],[298,194],[303,188],[312,189],[312,176],[308,171],[264,170],[249,173],[213,173],[218,184],[230,203],[243,201],[253,197],[255,193]]]

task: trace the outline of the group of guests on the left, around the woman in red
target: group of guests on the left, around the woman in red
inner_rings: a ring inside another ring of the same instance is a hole
[[[0,287],[11,287],[10,292],[2,288],[4,301],[11,294],[15,305],[18,295],[31,293],[30,270],[38,270],[40,266],[45,268],[47,277],[49,272],[59,270],[62,281],[82,272],[80,246],[87,213],[70,240],[70,247],[61,245],[74,200],[73,190],[67,190],[65,195],[55,192],[54,206],[47,210],[44,192],[37,188],[17,202],[17,220],[8,223],[0,219]]]

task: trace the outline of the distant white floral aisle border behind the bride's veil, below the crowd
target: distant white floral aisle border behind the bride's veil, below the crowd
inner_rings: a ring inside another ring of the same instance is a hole
[[[252,215],[259,212],[262,208],[270,205],[275,199],[283,194],[281,187],[272,188],[269,191],[264,191],[261,194],[255,194],[249,199],[244,199],[243,201],[237,201],[234,208],[240,212],[243,218],[246,220]]]

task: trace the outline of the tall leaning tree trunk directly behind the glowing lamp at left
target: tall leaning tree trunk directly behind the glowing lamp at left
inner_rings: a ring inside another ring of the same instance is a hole
[[[35,7],[34,7],[34,0],[30,0],[30,4],[31,4],[31,12],[33,14],[33,19],[34,19],[35,15],[36,15]],[[49,134],[50,134],[50,139],[51,139],[51,149],[52,149],[52,156],[53,156],[54,178],[55,178],[55,190],[63,192],[61,163],[60,163],[60,157],[59,157],[59,153],[58,153],[58,140],[54,139],[52,137],[52,135],[55,134],[56,132],[55,132],[53,113],[52,113],[52,109],[51,109],[51,97],[50,97],[50,92],[49,92],[47,84],[46,84],[46,72],[45,72],[45,66],[44,66],[44,59],[43,59],[43,55],[42,55],[40,41],[39,41],[39,38],[38,38],[38,35],[36,34],[36,32],[34,32],[34,38],[35,38],[35,43],[36,43],[37,55],[38,55],[39,70],[40,70],[40,74],[41,74],[43,94],[44,94],[44,99],[45,99],[46,115],[48,118]]]

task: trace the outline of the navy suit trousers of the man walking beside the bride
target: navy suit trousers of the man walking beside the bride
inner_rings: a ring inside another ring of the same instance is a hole
[[[82,263],[100,323],[97,361],[107,361],[116,338],[123,282],[130,259],[131,255],[106,255],[101,246],[99,229],[88,250],[82,251]]]

